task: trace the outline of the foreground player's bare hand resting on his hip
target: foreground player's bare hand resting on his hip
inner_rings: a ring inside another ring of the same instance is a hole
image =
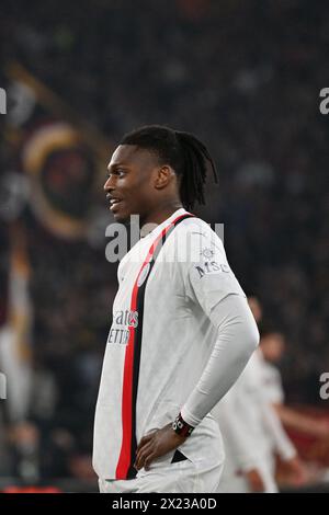
[[[177,449],[185,439],[185,436],[178,435],[172,430],[171,424],[166,425],[161,430],[154,431],[144,436],[139,442],[134,467],[137,470],[143,469],[143,467],[145,470],[148,470],[155,459],[170,450]]]

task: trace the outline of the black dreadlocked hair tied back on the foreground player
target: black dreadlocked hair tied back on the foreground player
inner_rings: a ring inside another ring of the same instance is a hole
[[[147,125],[126,134],[120,145],[136,145],[157,154],[160,164],[169,164],[179,178],[180,198],[185,209],[193,209],[195,201],[205,204],[204,186],[207,162],[217,183],[215,163],[195,136],[161,125]]]

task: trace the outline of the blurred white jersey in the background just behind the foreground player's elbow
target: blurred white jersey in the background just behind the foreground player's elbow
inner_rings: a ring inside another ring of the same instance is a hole
[[[257,350],[237,382],[213,410],[222,430],[227,458],[220,492],[241,491],[237,489],[245,481],[242,472],[253,468],[261,472],[266,491],[274,492],[274,453],[277,451],[283,459],[296,455],[268,401],[262,371],[263,356],[261,350]]]

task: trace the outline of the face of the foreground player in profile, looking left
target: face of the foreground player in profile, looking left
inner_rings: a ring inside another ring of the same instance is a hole
[[[120,145],[109,163],[104,184],[110,209],[116,221],[127,222],[131,215],[147,218],[154,208],[152,172],[159,164],[148,150]]]

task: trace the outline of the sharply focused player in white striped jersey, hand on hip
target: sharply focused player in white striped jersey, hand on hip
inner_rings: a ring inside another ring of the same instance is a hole
[[[206,147],[146,126],[114,151],[104,190],[117,222],[150,230],[123,258],[94,422],[101,492],[215,492],[224,462],[212,408],[259,342],[204,204]],[[151,225],[151,226],[150,226]],[[145,230],[144,230],[145,233]]]

